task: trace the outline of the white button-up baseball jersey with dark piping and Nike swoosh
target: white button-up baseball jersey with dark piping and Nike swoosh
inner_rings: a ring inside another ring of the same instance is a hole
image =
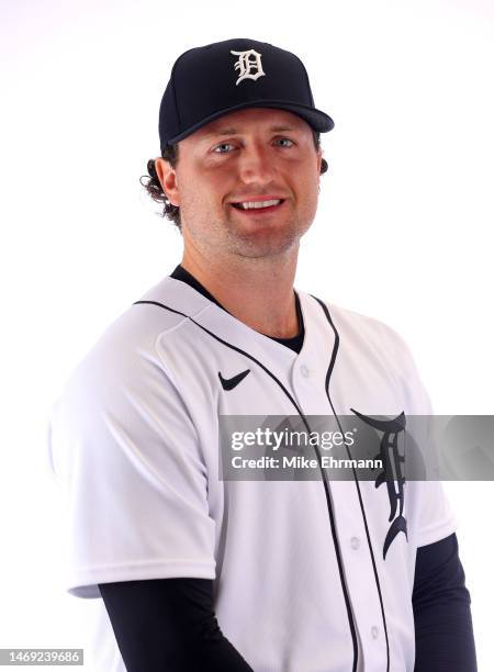
[[[67,590],[213,579],[220,627],[256,672],[412,672],[416,550],[457,527],[441,484],[406,483],[407,534],[384,558],[390,500],[372,481],[220,478],[220,415],[430,413],[391,328],[297,294],[300,354],[167,277],[79,363],[50,418]],[[100,603],[98,669],[123,672]]]

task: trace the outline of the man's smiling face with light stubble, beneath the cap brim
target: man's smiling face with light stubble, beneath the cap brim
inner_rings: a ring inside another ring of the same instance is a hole
[[[176,169],[161,159],[158,176],[180,206],[186,247],[258,258],[291,249],[311,226],[321,158],[300,116],[249,108],[181,141]],[[266,210],[234,205],[274,199],[281,204]]]

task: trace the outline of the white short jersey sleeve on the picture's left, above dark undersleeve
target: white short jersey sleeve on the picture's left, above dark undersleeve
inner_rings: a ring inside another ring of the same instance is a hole
[[[215,578],[201,441],[153,349],[97,348],[53,406],[48,436],[66,505],[69,593]]]

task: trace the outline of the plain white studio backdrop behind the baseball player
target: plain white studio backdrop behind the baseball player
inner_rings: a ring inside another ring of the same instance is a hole
[[[138,182],[175,59],[238,36],[302,57],[336,126],[296,287],[400,332],[437,413],[489,414],[494,2],[2,0],[1,13],[0,647],[88,650],[94,605],[64,593],[46,418],[105,326],[180,260]],[[493,483],[446,486],[483,672]]]

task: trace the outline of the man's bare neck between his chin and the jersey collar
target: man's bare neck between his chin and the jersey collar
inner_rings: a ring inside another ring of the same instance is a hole
[[[186,251],[181,266],[237,320],[278,338],[299,334],[293,280],[296,255],[276,264],[245,259],[236,265],[203,260]]]

